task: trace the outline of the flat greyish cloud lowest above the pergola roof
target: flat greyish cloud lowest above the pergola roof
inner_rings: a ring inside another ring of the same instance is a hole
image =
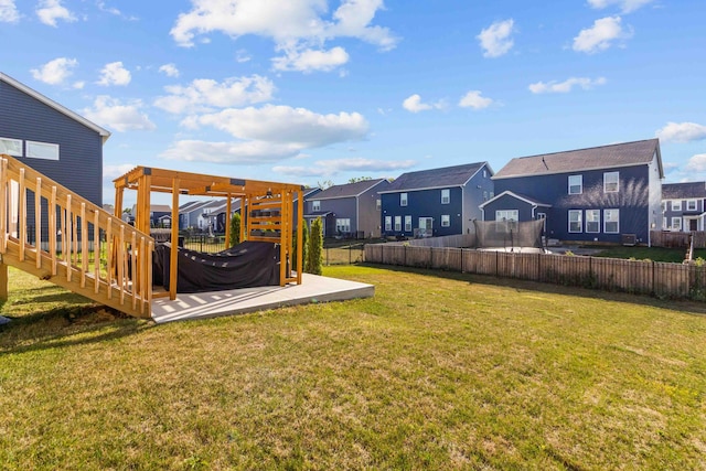
[[[263,163],[296,157],[300,147],[265,141],[210,142],[181,140],[160,153],[161,158],[213,163]]]

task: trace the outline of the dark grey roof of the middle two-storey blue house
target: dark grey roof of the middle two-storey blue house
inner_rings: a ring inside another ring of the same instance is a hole
[[[491,175],[493,174],[488,162],[467,163],[464,165],[403,173],[395,179],[386,190],[379,193],[462,186],[483,167],[488,168]]]

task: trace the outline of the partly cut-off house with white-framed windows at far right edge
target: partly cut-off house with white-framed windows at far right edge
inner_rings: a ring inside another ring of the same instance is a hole
[[[706,182],[662,184],[662,228],[706,231]]]

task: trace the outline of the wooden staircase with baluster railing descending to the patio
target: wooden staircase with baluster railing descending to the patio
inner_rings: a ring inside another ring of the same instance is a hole
[[[19,160],[0,154],[0,292],[17,267],[151,318],[154,240]]]

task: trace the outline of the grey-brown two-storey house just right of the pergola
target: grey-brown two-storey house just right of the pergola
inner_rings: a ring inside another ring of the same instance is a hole
[[[304,200],[304,220],[311,226],[313,220],[321,217],[324,237],[379,237],[377,193],[387,186],[386,179],[375,179],[312,192]]]

